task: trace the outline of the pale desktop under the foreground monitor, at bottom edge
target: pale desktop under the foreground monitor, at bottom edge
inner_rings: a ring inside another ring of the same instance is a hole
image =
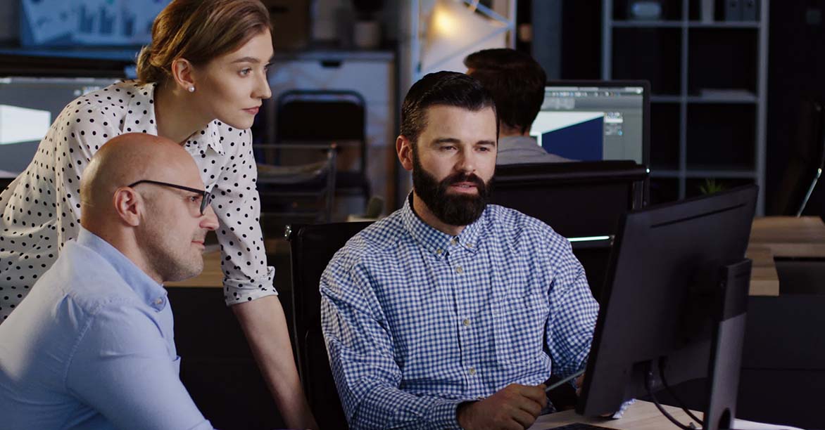
[[[689,423],[691,418],[685,411],[672,406],[664,407],[667,412],[673,415],[681,423]],[[697,414],[697,416],[700,416]],[[572,423],[586,423],[604,428],[633,429],[633,430],[662,430],[663,428],[676,428],[667,418],[656,409],[656,405],[642,400],[636,400],[625,411],[625,415],[620,419],[605,419],[582,417],[573,410],[549,414],[539,417],[538,420],[528,430],[549,430]]]

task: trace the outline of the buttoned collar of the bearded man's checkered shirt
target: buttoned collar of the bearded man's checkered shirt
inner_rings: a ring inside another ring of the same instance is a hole
[[[407,199],[404,200],[403,208],[401,208],[401,219],[410,236],[413,236],[413,239],[422,245],[427,252],[443,257],[450,251],[455,251],[456,248],[468,250],[472,254],[478,252],[479,240],[483,236],[483,219],[486,213],[487,209],[485,208],[481,217],[469,226],[464,227],[464,230],[458,236],[450,236],[435,227],[431,227],[421,217],[418,217],[413,211],[413,193],[410,193]]]

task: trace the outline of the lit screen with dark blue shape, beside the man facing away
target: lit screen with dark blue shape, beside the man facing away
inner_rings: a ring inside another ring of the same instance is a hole
[[[530,136],[577,161],[644,164],[643,86],[546,86]]]

